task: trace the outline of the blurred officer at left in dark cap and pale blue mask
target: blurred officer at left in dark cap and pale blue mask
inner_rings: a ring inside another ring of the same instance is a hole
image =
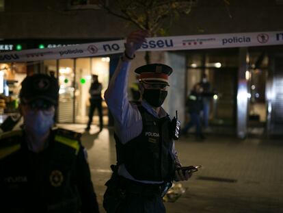
[[[58,91],[49,75],[22,82],[23,130],[0,136],[0,212],[98,212],[81,135],[51,129]]]

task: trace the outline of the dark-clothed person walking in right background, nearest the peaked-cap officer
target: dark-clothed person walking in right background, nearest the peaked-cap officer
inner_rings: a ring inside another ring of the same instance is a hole
[[[186,105],[190,115],[190,121],[185,125],[182,133],[187,134],[187,131],[189,131],[191,127],[196,126],[197,139],[204,139],[204,135],[202,134],[202,123],[200,121],[200,112],[203,108],[202,86],[200,84],[193,86],[193,90],[187,98]]]

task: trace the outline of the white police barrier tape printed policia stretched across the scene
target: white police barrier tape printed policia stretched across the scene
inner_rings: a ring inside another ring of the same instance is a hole
[[[283,31],[147,38],[146,42],[144,42],[138,51],[217,49],[265,45],[283,45]],[[3,52],[0,53],[0,62],[30,62],[62,58],[81,58],[110,55],[122,53],[123,51],[124,40],[112,40],[57,48]]]

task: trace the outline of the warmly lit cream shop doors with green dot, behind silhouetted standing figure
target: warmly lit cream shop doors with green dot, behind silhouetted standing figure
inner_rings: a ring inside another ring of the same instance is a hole
[[[109,62],[109,57],[44,61],[44,71],[46,73],[54,72],[59,79],[57,113],[59,123],[87,123],[92,75],[98,75],[98,81],[103,85],[102,95],[104,95],[109,82]],[[107,120],[105,101],[103,101],[103,115]]]

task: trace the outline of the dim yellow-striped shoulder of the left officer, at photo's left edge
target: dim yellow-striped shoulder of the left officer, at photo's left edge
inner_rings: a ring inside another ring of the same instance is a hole
[[[0,160],[21,149],[23,131],[8,131],[0,136]]]

